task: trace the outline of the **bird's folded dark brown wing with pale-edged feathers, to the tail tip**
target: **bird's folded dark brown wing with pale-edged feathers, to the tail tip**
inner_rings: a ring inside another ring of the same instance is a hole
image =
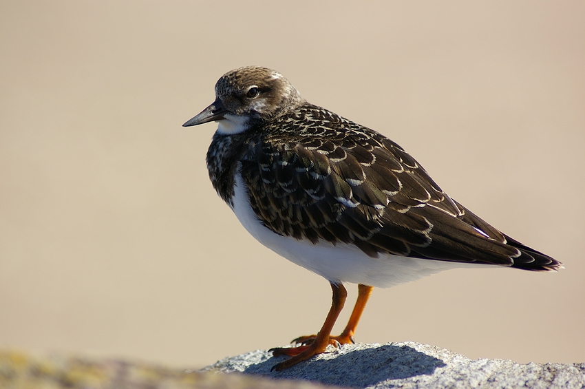
[[[292,142],[283,131],[259,136],[242,160],[253,210],[275,233],[372,257],[557,266],[451,200],[396,143],[339,117],[325,123]]]

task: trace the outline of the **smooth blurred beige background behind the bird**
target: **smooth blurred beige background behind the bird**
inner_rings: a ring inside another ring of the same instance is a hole
[[[1,1],[0,347],[199,367],[320,328],[326,280],[215,195],[216,125],[181,127],[224,72],[264,65],[566,265],[376,289],[358,341],[585,361],[584,17],[582,1]]]

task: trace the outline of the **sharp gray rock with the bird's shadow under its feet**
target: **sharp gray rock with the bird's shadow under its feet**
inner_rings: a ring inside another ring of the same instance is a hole
[[[285,357],[265,350],[230,357],[207,372],[242,372],[345,388],[585,388],[584,364],[517,364],[507,359],[471,359],[412,341],[351,344],[281,372],[270,368]]]

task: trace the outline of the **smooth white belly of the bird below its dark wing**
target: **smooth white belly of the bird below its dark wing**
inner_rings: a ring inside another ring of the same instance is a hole
[[[235,175],[235,184],[233,211],[244,228],[268,249],[325,277],[330,282],[351,282],[387,288],[447,269],[484,267],[478,264],[421,260],[397,255],[380,255],[372,258],[349,244],[336,246],[328,242],[312,244],[308,240],[277,235],[264,227],[255,215],[248,202],[248,193],[239,172]]]

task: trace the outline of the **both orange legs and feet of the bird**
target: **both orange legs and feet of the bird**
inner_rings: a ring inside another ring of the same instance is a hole
[[[339,316],[339,313],[341,312],[341,309],[343,309],[345,297],[347,297],[348,293],[341,284],[331,284],[331,288],[333,290],[333,301],[331,304],[331,309],[319,333],[317,333],[317,335],[299,337],[292,341],[296,344],[302,344],[302,346],[290,348],[279,347],[271,349],[270,351],[273,352],[275,357],[278,357],[279,355],[291,356],[290,359],[273,366],[272,370],[283,370],[290,368],[290,366],[298,364],[300,361],[309,359],[313,355],[321,354],[325,351],[328,344],[337,346],[339,344],[354,343],[353,337],[357,324],[361,314],[363,313],[363,308],[365,308],[365,304],[368,302],[368,299],[372,294],[373,287],[359,284],[357,302],[354,306],[354,310],[352,311],[352,315],[350,316],[350,321],[348,322],[348,325],[345,326],[343,333],[341,333],[339,336],[330,336],[331,330],[335,324],[335,321],[337,320],[337,317]]]

